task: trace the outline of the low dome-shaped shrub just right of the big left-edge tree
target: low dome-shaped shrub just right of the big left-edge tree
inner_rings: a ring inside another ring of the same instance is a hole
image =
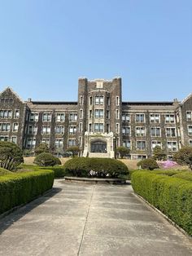
[[[61,161],[58,157],[51,155],[50,153],[42,152],[35,157],[34,163],[37,166],[56,166],[61,165]]]

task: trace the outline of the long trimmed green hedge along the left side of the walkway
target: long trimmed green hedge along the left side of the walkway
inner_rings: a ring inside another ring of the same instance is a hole
[[[52,170],[39,170],[0,176],[0,214],[40,196],[54,182]]]

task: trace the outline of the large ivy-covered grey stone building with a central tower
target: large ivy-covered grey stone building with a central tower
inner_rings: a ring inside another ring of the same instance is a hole
[[[0,94],[0,139],[33,152],[45,142],[62,155],[78,145],[84,157],[151,157],[159,145],[171,158],[192,146],[192,94],[181,102],[122,102],[121,79],[79,79],[77,102],[23,101],[10,87]]]

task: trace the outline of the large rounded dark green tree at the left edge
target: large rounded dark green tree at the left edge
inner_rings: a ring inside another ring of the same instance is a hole
[[[0,167],[15,170],[24,162],[23,152],[15,143],[0,141]]]

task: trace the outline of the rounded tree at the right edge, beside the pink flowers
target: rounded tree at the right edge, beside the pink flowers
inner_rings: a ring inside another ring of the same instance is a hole
[[[183,147],[173,156],[173,161],[181,166],[188,166],[192,170],[192,147]]]

